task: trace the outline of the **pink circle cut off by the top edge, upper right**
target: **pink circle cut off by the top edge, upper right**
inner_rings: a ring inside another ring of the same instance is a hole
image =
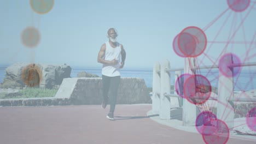
[[[250,5],[250,0],[227,0],[229,8],[236,11],[242,12],[246,10]]]

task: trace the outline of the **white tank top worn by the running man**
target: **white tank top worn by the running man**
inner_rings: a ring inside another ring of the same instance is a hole
[[[102,75],[106,76],[120,76],[120,65],[119,63],[121,62],[121,47],[120,44],[117,43],[117,47],[113,48],[110,46],[109,41],[106,43],[106,51],[104,55],[104,59],[107,61],[112,61],[113,59],[117,59],[118,64],[103,64],[102,67]]]

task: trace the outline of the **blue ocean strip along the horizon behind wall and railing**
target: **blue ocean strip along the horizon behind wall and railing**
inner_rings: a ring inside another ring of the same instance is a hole
[[[0,82],[3,82],[5,75],[5,68],[7,65],[0,65]],[[86,67],[72,67],[71,77],[77,77],[77,74],[81,71],[86,73],[96,74],[101,76],[101,68],[86,68]],[[211,83],[211,86],[218,87],[218,69],[200,70],[197,74],[201,74],[207,77],[207,80]],[[171,71],[174,74],[174,71]],[[183,73],[183,72],[182,72]],[[144,79],[147,87],[152,87],[153,82],[153,68],[152,69],[132,69],[124,68],[121,69],[121,77],[139,77]],[[256,89],[256,70],[241,70],[234,77],[234,91],[249,91],[251,89]],[[174,85],[174,76],[171,75],[171,85]]]

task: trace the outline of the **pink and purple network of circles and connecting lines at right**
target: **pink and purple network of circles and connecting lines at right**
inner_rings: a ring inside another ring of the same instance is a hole
[[[227,8],[206,27],[188,26],[173,39],[173,51],[188,59],[191,71],[178,77],[175,89],[181,89],[177,83],[183,79],[182,92],[177,93],[201,110],[195,127],[210,144],[237,136],[231,133],[256,134],[256,1],[223,3]],[[217,97],[211,98],[212,93]],[[216,112],[216,107],[223,111]],[[232,126],[227,119],[234,122],[235,116],[241,118]]]

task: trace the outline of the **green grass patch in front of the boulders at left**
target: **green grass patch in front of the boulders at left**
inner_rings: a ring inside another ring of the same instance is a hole
[[[22,89],[15,95],[6,95],[4,99],[10,98],[44,98],[44,97],[54,97],[57,93],[57,89],[45,89],[45,88],[26,88]],[[3,95],[3,94],[2,94]],[[1,94],[0,94],[1,96]]]

